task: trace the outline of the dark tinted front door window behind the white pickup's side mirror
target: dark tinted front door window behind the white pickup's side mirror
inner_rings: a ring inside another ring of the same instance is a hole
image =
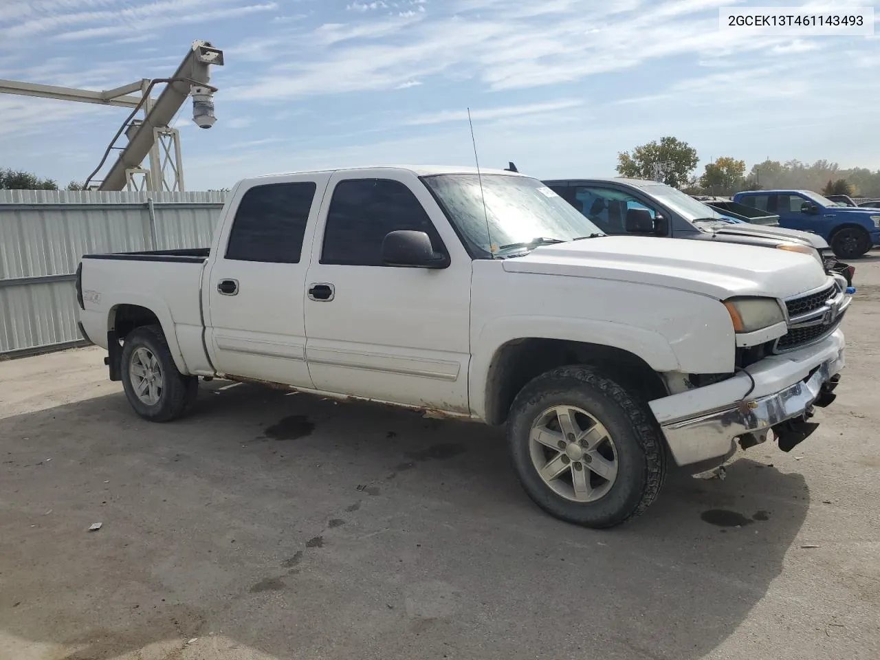
[[[324,230],[321,263],[382,266],[382,241],[390,231],[424,231],[443,251],[434,225],[413,192],[400,181],[352,179],[334,189]]]

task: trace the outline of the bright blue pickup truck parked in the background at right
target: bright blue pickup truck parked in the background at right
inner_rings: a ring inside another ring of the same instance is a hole
[[[733,201],[775,213],[786,229],[812,231],[839,259],[854,259],[880,246],[880,210],[840,206],[809,190],[753,190]]]

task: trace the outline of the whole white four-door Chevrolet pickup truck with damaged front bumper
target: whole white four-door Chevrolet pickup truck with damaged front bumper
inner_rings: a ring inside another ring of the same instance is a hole
[[[671,460],[808,436],[845,289],[807,254],[605,236],[539,180],[448,167],[243,180],[209,249],[77,271],[80,329],[145,419],[204,377],[506,423],[527,494],[592,527],[645,510]]]

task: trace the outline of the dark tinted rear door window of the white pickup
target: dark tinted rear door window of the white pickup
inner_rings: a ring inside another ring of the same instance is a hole
[[[232,221],[226,259],[299,263],[315,189],[301,181],[248,190]]]

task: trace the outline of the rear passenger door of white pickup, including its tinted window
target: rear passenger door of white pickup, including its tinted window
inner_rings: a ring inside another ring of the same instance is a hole
[[[328,178],[273,177],[236,189],[235,216],[215,241],[203,284],[206,343],[218,372],[312,387],[304,282]]]

